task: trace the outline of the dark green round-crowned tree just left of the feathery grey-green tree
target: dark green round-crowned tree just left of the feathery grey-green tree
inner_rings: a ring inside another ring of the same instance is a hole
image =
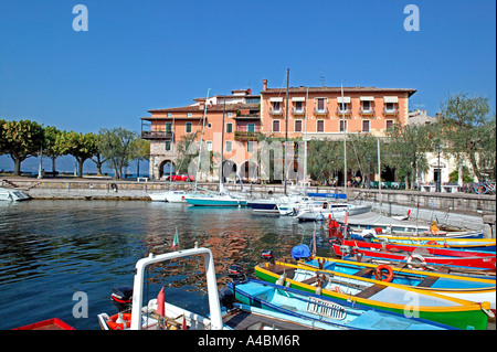
[[[62,132],[60,135],[60,148],[65,154],[73,156],[78,163],[77,177],[83,177],[83,164],[96,152],[96,136],[89,134],[78,134],[75,131]]]

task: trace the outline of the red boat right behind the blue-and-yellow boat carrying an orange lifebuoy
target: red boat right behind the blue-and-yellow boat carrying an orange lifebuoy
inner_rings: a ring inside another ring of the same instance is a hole
[[[495,253],[469,252],[451,248],[424,247],[423,253],[415,250],[416,246],[399,244],[380,244],[363,241],[342,239],[334,243],[335,254],[346,256],[360,253],[367,257],[384,258],[395,262],[404,262],[410,266],[422,267],[426,264],[463,266],[478,269],[495,270]]]

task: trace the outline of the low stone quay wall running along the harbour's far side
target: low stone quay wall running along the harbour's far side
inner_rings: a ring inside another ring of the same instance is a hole
[[[140,182],[133,180],[116,181],[109,178],[20,178],[0,177],[0,186],[24,190],[35,200],[128,200],[150,201],[149,193],[167,191],[168,181]],[[194,182],[175,182],[176,190],[189,190]],[[199,182],[199,188],[215,191],[218,183]],[[226,183],[231,192],[240,192],[239,183]],[[244,191],[255,198],[271,198],[283,194],[282,184],[244,184]],[[287,186],[287,192],[296,190]],[[309,192],[342,193],[343,188],[313,186]],[[381,196],[380,196],[381,193]],[[468,193],[435,193],[409,190],[381,190],[348,188],[349,200],[371,202],[373,211],[384,215],[405,215],[411,211],[411,218],[420,222],[436,220],[440,224],[452,227],[478,230],[484,227],[487,237],[496,234],[496,198]]]

